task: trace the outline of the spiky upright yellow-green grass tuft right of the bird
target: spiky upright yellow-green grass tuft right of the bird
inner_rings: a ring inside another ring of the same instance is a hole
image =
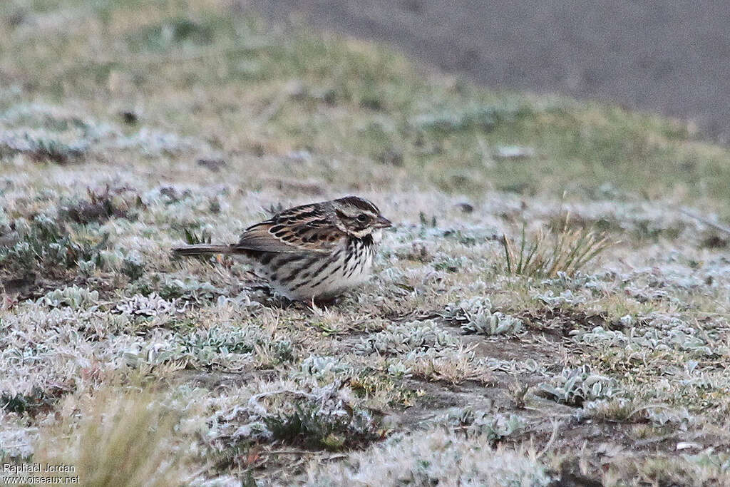
[[[569,229],[567,217],[558,234],[540,231],[533,242],[527,241],[524,224],[519,243],[502,235],[507,274],[528,277],[556,277],[558,272],[572,276],[612,245],[592,230]]]

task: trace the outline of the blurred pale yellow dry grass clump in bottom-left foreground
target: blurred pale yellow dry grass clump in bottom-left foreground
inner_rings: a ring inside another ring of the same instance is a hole
[[[41,435],[34,461],[72,465],[87,486],[179,486],[179,416],[148,391],[104,388]]]

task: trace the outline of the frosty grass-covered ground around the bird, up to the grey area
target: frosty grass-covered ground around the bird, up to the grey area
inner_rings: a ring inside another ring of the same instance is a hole
[[[0,464],[86,485],[730,483],[726,149],[229,8],[0,9]],[[169,254],[347,193],[396,224],[326,308]]]

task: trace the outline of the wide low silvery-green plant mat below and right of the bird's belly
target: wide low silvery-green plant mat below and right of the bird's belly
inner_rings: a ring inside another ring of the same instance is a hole
[[[395,355],[412,350],[458,348],[460,343],[458,337],[442,329],[433,320],[410,321],[394,324],[386,330],[362,337],[355,345],[355,350],[362,355]]]

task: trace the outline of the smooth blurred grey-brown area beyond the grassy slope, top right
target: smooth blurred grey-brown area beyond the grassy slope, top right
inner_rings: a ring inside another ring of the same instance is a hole
[[[730,140],[730,12],[721,1],[241,3],[278,21],[391,42],[494,88],[614,101]]]

